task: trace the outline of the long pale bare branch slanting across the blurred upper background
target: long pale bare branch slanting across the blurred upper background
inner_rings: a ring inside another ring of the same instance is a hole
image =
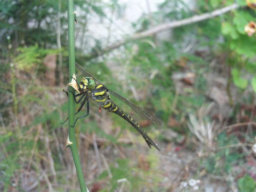
[[[92,59],[92,58],[95,58],[99,55],[103,55],[106,52],[110,52],[111,50],[116,49],[116,48],[122,46],[123,44],[126,44],[126,43],[130,42],[130,41],[145,38],[145,37],[157,34],[159,32],[165,31],[165,30],[169,30],[169,29],[180,27],[180,26],[189,25],[189,24],[192,24],[192,23],[197,23],[197,22],[200,22],[202,20],[207,20],[207,19],[210,19],[210,18],[213,18],[213,17],[217,17],[219,15],[223,15],[224,13],[227,13],[227,12],[230,12],[234,9],[237,9],[238,7],[239,7],[238,4],[234,3],[231,6],[227,6],[227,7],[221,8],[221,9],[217,9],[213,12],[204,13],[202,15],[195,15],[193,17],[189,17],[189,18],[183,19],[183,20],[176,20],[176,21],[171,21],[171,22],[167,22],[167,23],[162,23],[162,24],[160,24],[158,26],[155,26],[151,29],[145,30],[144,32],[135,33],[134,35],[128,36],[128,38],[125,38],[122,41],[119,41],[117,43],[112,44],[111,46],[103,48],[102,50],[100,50],[100,54],[97,52],[97,53],[94,53],[94,54],[91,54],[91,55],[87,55],[85,58],[86,59]]]

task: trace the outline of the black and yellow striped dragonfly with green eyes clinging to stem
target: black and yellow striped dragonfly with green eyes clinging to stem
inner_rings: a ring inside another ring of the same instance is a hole
[[[139,123],[137,123],[131,116],[129,116],[127,113],[125,113],[122,108],[119,107],[113,100],[111,96],[116,97],[117,99],[120,99],[121,101],[125,102],[127,105],[129,105],[136,113],[138,113],[143,119],[154,123],[155,125],[161,125],[161,121],[157,118],[156,115],[151,113],[150,111],[146,110],[145,108],[140,107],[139,105],[134,104],[133,102],[129,101],[119,93],[117,93],[114,90],[108,89],[104,84],[102,84],[100,81],[98,81],[93,75],[91,75],[89,72],[83,69],[78,63],[76,63],[76,68],[81,71],[83,77],[81,81],[78,83],[76,81],[76,85],[78,88],[79,93],[75,94],[74,92],[71,92],[74,96],[76,104],[81,103],[78,111],[75,113],[79,113],[83,106],[87,105],[87,114],[83,116],[79,116],[76,118],[74,125],[76,124],[78,119],[84,118],[89,115],[89,99],[93,99],[96,103],[98,103],[100,108],[103,108],[104,110],[112,113],[116,113],[123,119],[125,119],[127,122],[129,122],[134,128],[136,128],[137,131],[143,136],[148,146],[151,148],[151,146],[154,146],[157,150],[160,151],[160,149],[157,147],[157,144],[148,136],[148,134],[145,132],[143,128],[140,127]],[[76,80],[75,78],[73,78]],[[63,90],[64,92],[68,92]],[[80,96],[80,97],[79,97]],[[77,98],[79,99],[77,100]],[[68,118],[67,118],[68,119]],[[64,121],[66,122],[67,119]],[[61,123],[61,124],[64,124]],[[74,126],[73,125],[73,126]]]

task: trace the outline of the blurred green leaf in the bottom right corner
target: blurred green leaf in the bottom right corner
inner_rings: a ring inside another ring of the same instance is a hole
[[[244,175],[238,180],[238,188],[240,192],[254,192],[256,189],[255,180],[249,175]]]

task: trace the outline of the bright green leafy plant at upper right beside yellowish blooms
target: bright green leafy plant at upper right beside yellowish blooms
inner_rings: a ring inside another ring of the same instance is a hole
[[[246,5],[245,2],[239,1],[239,5]],[[233,13],[232,17],[226,17],[221,25],[221,32],[227,40],[227,47],[230,49],[228,64],[231,67],[233,83],[245,89],[250,81],[253,90],[256,92],[256,66],[253,62],[256,52],[255,32],[248,32],[247,25],[253,23],[256,13],[254,10],[238,10]],[[245,74],[250,74],[245,78]]]

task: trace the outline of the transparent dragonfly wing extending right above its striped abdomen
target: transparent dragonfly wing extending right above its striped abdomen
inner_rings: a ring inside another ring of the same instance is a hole
[[[138,113],[143,119],[154,123],[156,125],[161,125],[161,121],[150,111],[140,107],[139,105],[134,104],[133,102],[130,102],[128,99],[120,95],[119,93],[116,93],[116,91],[108,89],[108,92],[111,93],[111,95],[115,96],[118,99],[121,99],[123,102],[127,103],[136,113]]]

